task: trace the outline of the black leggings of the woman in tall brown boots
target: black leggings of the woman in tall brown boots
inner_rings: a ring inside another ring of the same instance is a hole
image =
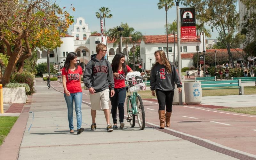
[[[156,89],[156,97],[159,104],[158,110],[164,110],[166,105],[166,111],[172,112],[172,100],[174,91],[160,91]]]

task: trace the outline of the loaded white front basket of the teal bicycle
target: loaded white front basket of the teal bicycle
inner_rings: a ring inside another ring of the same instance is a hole
[[[130,92],[145,91],[147,78],[142,79],[140,72],[131,72],[127,74],[128,88]]]

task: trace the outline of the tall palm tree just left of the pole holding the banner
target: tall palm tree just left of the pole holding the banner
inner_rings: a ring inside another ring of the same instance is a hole
[[[166,39],[167,39],[167,59],[169,60],[169,55],[168,55],[168,26],[167,26],[167,11],[174,6],[174,3],[172,0],[159,0],[159,3],[157,3],[158,9],[165,9],[165,16],[166,16]]]

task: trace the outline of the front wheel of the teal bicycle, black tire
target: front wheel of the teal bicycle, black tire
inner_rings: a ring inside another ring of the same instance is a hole
[[[138,110],[138,113],[137,113],[138,124],[140,126],[140,129],[144,130],[146,119],[145,119],[144,106],[143,106],[143,102],[140,95],[137,95],[136,97],[136,104],[137,104],[137,110]]]

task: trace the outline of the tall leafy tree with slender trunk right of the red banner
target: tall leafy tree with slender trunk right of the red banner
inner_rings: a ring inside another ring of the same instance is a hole
[[[237,0],[182,0],[182,3],[185,6],[196,6],[196,18],[217,30],[220,40],[228,50],[229,62],[234,66],[230,48],[239,22],[239,13],[236,12]]]

